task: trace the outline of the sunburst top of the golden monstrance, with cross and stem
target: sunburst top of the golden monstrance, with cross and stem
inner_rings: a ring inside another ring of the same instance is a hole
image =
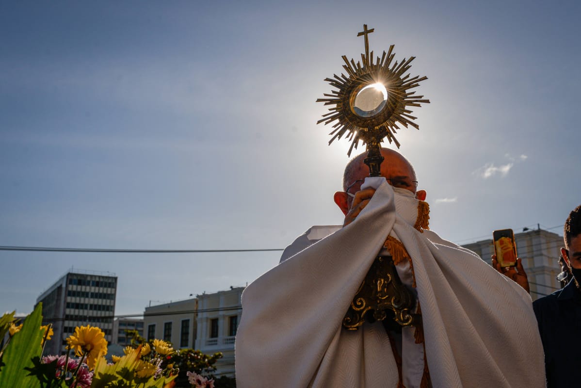
[[[342,56],[343,69],[347,76],[333,74],[333,78],[325,78],[333,88],[331,94],[324,94],[327,98],[317,99],[317,102],[324,102],[325,105],[334,105],[329,108],[328,113],[323,114],[319,123],[333,123],[333,137],[329,144],[335,139],[346,138],[352,141],[347,155],[350,156],[353,148],[357,149],[358,143],[367,145],[367,159],[365,164],[370,167],[370,176],[379,176],[379,166],[383,161],[381,157],[380,145],[384,138],[389,143],[392,141],[399,148],[400,143],[395,138],[399,125],[412,127],[419,130],[419,126],[414,123],[417,117],[411,116],[413,113],[409,107],[419,107],[420,103],[429,103],[424,96],[416,96],[415,92],[409,91],[419,86],[420,81],[427,77],[411,77],[404,75],[410,67],[411,61],[404,58],[401,62],[393,62],[395,54],[394,45],[389,46],[389,51],[383,51],[381,58],[377,57],[373,63],[373,52],[369,52],[368,35],[374,32],[374,28],[368,29],[367,24],[363,24],[363,31],[357,36],[364,36],[365,54],[361,54],[360,62],[355,63],[353,59],[348,60]],[[392,63],[393,62],[393,63]]]

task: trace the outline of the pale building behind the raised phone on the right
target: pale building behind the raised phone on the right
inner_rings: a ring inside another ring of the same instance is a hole
[[[491,233],[492,235],[492,233]],[[529,279],[530,296],[533,300],[553,293],[561,288],[557,275],[561,272],[559,257],[564,246],[563,237],[543,229],[515,233],[517,254]],[[492,262],[494,245],[492,239],[463,245],[474,251],[486,263]]]

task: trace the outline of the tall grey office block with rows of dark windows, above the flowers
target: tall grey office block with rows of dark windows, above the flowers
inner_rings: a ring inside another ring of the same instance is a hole
[[[45,354],[63,354],[66,338],[76,326],[98,326],[105,339],[113,340],[113,316],[117,276],[110,272],[68,272],[37,299],[42,302],[42,324],[52,324],[55,335],[46,343]]]

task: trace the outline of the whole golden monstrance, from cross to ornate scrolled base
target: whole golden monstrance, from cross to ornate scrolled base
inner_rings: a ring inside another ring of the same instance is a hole
[[[317,99],[317,102],[324,102],[325,105],[334,105],[317,124],[326,125],[336,121],[332,125],[335,129],[330,133],[332,138],[329,145],[333,140],[346,135],[352,142],[347,156],[351,155],[354,148],[357,149],[359,142],[367,145],[364,163],[370,169],[370,177],[379,177],[383,161],[383,139],[387,138],[389,143],[393,142],[399,148],[400,143],[395,137],[399,125],[406,128],[411,125],[419,130],[419,126],[414,123],[417,117],[411,116],[409,107],[419,107],[420,103],[429,103],[429,100],[410,91],[427,79],[419,76],[410,78],[410,74],[406,74],[415,57],[393,62],[394,45],[391,45],[388,52],[383,51],[381,58],[377,57],[373,62],[368,39],[372,32],[374,28],[368,30],[367,24],[364,24],[363,31],[357,34],[365,39],[365,54],[361,54],[361,62],[347,60],[343,55],[343,69],[347,71],[347,76],[333,74],[333,78],[325,79],[338,90],[324,94],[326,98]],[[354,296],[343,319],[343,326],[355,330],[366,319],[383,321],[384,325],[392,329],[392,322],[399,324],[396,328],[417,326],[421,322],[421,315],[411,312],[414,306],[415,298],[401,283],[392,258],[378,256]]]

